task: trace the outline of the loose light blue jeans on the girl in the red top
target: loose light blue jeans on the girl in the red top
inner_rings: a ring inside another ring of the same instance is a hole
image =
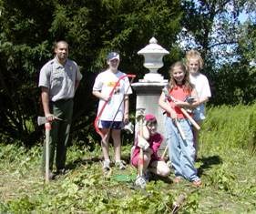
[[[188,119],[179,119],[179,125],[186,140],[180,137],[179,130],[170,117],[166,117],[166,138],[169,146],[169,158],[174,168],[175,176],[181,176],[189,181],[199,180],[197,168],[194,167],[195,153],[192,127]]]

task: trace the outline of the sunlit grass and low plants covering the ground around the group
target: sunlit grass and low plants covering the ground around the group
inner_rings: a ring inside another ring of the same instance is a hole
[[[255,106],[210,108],[196,163],[200,189],[186,180],[174,184],[173,173],[150,181],[145,191],[134,189],[135,168],[112,168],[103,176],[100,148],[82,146],[68,149],[70,172],[46,184],[39,171],[41,147],[2,144],[0,213],[171,213],[181,194],[179,213],[256,213],[253,112]],[[123,147],[127,160],[129,149]]]

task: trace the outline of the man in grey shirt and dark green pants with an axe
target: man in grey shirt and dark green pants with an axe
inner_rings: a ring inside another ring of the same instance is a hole
[[[67,142],[73,115],[73,97],[82,78],[77,63],[68,59],[68,44],[58,41],[55,58],[42,67],[38,87],[47,121],[51,123],[49,139],[49,177],[53,178],[56,151],[56,173],[65,173]],[[42,168],[46,164],[44,146]]]

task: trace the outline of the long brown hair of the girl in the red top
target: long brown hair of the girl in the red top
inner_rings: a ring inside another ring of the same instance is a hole
[[[189,81],[189,72],[187,70],[187,67],[181,61],[178,61],[178,62],[172,64],[172,66],[170,66],[170,68],[169,68],[169,77],[170,77],[169,78],[169,89],[171,90],[172,88],[175,88],[178,85],[175,78],[173,77],[173,70],[176,67],[180,67],[181,70],[185,74],[185,76],[182,80],[183,89],[191,92],[191,90],[193,89],[193,85]]]

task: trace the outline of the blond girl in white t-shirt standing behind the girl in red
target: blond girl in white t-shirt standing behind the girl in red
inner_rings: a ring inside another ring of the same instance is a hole
[[[193,103],[196,107],[194,110],[194,119],[201,125],[202,120],[205,119],[205,103],[211,97],[210,85],[208,78],[200,73],[203,67],[203,60],[197,50],[189,50],[186,54],[186,64],[189,69],[189,80],[195,86],[198,93],[199,101]],[[196,158],[199,148],[199,130],[193,127],[194,144],[196,148]]]

